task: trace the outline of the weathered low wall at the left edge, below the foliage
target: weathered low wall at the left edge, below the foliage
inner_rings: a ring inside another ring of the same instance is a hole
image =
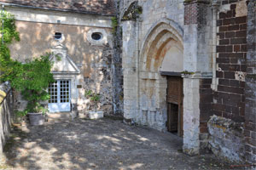
[[[0,155],[9,137],[12,116],[13,97],[9,83],[5,82],[0,84]]]

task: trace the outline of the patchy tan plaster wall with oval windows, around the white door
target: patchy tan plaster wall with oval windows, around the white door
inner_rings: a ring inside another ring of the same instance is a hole
[[[44,9],[6,7],[15,14],[20,42],[10,45],[11,57],[22,62],[51,52],[56,45],[55,32],[61,32],[61,44],[67,47],[68,57],[73,59],[80,74],[75,81],[67,75],[56,79],[70,79],[72,103],[80,113],[87,113],[92,106],[84,92],[92,90],[101,94],[101,109],[106,114],[122,113],[121,60],[113,51],[111,16],[77,14]],[[102,38],[93,40],[93,32]],[[113,53],[115,54],[113,57]],[[114,87],[114,88],[113,88]],[[119,102],[120,101],[120,102]],[[26,102],[15,93],[16,109],[24,109]]]

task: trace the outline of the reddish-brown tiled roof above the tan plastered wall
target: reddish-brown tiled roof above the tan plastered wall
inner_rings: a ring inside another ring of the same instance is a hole
[[[0,0],[0,3],[87,14],[115,14],[114,0]]]

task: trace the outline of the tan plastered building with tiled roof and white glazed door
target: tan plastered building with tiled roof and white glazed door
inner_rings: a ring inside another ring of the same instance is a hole
[[[26,62],[26,59],[47,52],[61,57],[51,58],[57,82],[49,89],[53,94],[53,99],[49,100],[50,112],[71,111],[71,104],[80,113],[87,112],[90,99],[86,99],[84,93],[92,90],[101,95],[101,109],[106,114],[122,113],[123,101],[113,100],[113,97],[123,95],[113,89],[122,84],[113,59],[111,18],[116,14],[113,1],[2,0],[0,3],[3,10],[15,15],[17,31],[20,32],[20,42],[9,47],[13,59]],[[59,95],[64,89],[60,88],[61,83],[69,86],[63,91],[67,98],[65,105],[59,99],[63,98]],[[20,103],[24,102],[20,98],[16,98],[16,103],[17,108],[22,109]]]

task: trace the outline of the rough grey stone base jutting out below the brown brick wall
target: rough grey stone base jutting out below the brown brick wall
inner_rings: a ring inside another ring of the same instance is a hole
[[[243,123],[212,116],[208,130],[209,146],[216,156],[225,161],[244,162]]]

